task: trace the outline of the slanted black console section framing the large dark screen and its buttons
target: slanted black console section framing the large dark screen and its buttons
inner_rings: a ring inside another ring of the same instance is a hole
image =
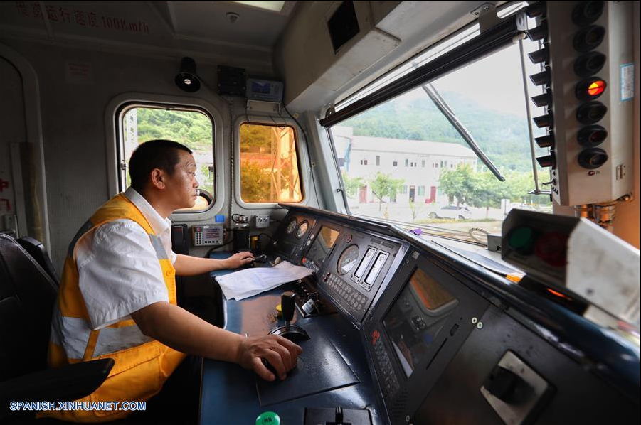
[[[489,303],[413,252],[366,317],[366,350],[389,420],[405,423]]]

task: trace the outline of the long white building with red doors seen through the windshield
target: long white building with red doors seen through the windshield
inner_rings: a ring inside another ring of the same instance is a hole
[[[413,200],[447,204],[447,195],[438,191],[440,174],[459,164],[475,168],[477,163],[474,151],[460,144],[354,136],[351,127],[332,127],[332,139],[341,171],[346,171],[350,178],[360,177],[367,182],[380,172],[403,179],[403,188],[396,199],[393,196],[385,199],[390,203],[408,205],[408,201]],[[378,198],[366,183],[353,201],[378,202]]]

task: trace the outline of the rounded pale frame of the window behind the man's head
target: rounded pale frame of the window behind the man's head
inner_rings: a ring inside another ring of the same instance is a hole
[[[123,126],[125,113],[133,107],[159,107],[179,110],[194,110],[202,112],[211,119],[212,129],[212,163],[214,168],[213,203],[206,210],[174,212],[170,219],[180,222],[213,220],[221,211],[226,199],[225,173],[223,173],[223,116],[221,110],[224,104],[214,106],[206,100],[197,97],[157,95],[154,93],[129,92],[118,95],[107,104],[105,109],[105,128],[107,129],[107,184],[109,197],[120,192],[120,152],[122,151]],[[109,130],[111,129],[111,131]]]

